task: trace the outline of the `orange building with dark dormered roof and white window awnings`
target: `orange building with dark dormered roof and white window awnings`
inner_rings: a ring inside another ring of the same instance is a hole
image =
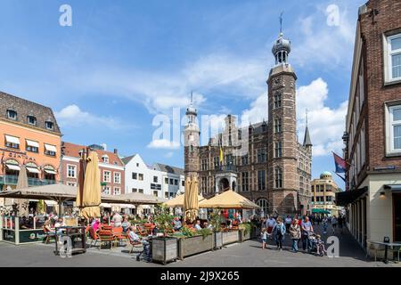
[[[53,110],[12,94],[0,92],[0,191],[14,189],[21,167],[29,186],[58,183],[61,131]],[[28,215],[36,202],[20,199],[19,214]],[[0,199],[0,207],[15,206]]]

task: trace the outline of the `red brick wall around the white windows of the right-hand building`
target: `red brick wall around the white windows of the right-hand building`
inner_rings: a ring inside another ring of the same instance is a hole
[[[370,12],[378,10],[372,24]],[[367,12],[360,16],[364,40],[364,74],[366,82],[366,162],[373,167],[401,167],[401,157],[386,158],[384,102],[401,99],[401,84],[384,85],[383,33],[401,28],[401,1],[371,0]],[[400,30],[401,32],[401,30]]]

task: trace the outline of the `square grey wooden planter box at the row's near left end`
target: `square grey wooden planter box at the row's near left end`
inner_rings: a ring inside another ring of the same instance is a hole
[[[151,241],[151,259],[166,265],[170,261],[176,261],[177,239],[173,237],[153,238]]]

